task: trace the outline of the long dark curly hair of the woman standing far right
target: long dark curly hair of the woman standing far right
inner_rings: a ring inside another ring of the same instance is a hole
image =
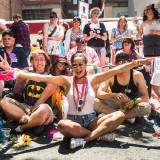
[[[158,10],[155,8],[155,5],[154,4],[149,4],[145,7],[144,11],[143,11],[143,22],[146,21],[148,19],[148,17],[146,16],[145,14],[145,10],[147,8],[150,8],[152,11],[153,11],[153,14],[154,14],[154,19],[159,19],[159,12]]]

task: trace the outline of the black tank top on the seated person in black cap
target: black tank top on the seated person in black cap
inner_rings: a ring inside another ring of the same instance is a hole
[[[114,76],[114,83],[110,87],[113,93],[124,93],[130,99],[138,98],[138,87],[133,80],[133,70],[130,70],[130,80],[127,85],[121,85],[118,83],[117,75]]]

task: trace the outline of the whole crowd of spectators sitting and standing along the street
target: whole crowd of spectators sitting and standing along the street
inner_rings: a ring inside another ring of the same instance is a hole
[[[100,14],[98,7],[93,8],[91,21],[82,29],[79,17],[73,18],[69,28],[51,11],[50,22],[38,32],[41,50],[32,53],[29,28],[21,15],[13,16],[10,29],[0,26],[4,31],[0,69],[15,73],[14,78],[0,80],[0,106],[8,119],[21,123],[13,132],[32,128],[40,135],[45,125],[56,121],[59,131],[71,138],[70,148],[74,149],[95,139],[112,142],[114,130],[124,120],[134,123],[137,117],[151,117],[153,112],[160,127],[160,73],[152,76],[154,59],[145,57],[160,55],[157,9],[154,4],[147,5],[143,22],[137,25],[137,38],[143,35],[143,59],[126,17],[119,18],[109,35],[99,22]],[[8,83],[14,87],[13,93],[24,96],[23,103],[3,94]],[[67,119],[57,120],[58,111],[53,110],[52,95],[57,88],[68,100]]]

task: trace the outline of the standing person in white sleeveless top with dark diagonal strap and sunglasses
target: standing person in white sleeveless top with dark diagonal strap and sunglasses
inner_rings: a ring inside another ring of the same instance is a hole
[[[61,55],[62,39],[64,38],[64,30],[58,25],[59,15],[52,11],[50,13],[50,22],[43,26],[43,50],[48,53],[51,63],[54,62],[56,56]]]

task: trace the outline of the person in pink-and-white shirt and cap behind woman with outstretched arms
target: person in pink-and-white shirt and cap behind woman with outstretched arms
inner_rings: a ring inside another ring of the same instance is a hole
[[[94,68],[100,65],[100,60],[95,50],[87,46],[86,40],[79,36],[76,38],[77,46],[69,50],[67,54],[68,61],[71,60],[71,56],[76,52],[82,52],[87,57],[87,74],[94,74]]]

